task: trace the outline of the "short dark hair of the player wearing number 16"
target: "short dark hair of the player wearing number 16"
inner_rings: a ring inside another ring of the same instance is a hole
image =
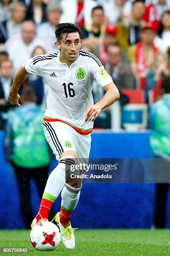
[[[67,38],[69,33],[78,32],[81,38],[81,31],[80,28],[78,28],[75,23],[58,23],[55,26],[55,37],[57,38],[57,41],[60,42],[62,35],[66,35],[65,39]]]

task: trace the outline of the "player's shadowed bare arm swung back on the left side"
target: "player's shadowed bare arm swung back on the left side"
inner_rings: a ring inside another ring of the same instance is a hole
[[[22,64],[14,77],[13,84],[10,88],[10,92],[8,95],[8,101],[12,105],[16,105],[17,107],[20,107],[20,104],[18,103],[18,100],[20,99],[18,90],[21,84],[27,79],[27,77],[28,77],[28,72],[25,69],[25,64]]]

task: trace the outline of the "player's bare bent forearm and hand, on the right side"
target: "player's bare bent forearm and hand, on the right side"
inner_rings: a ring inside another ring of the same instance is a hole
[[[120,98],[119,91],[113,82],[105,85],[103,89],[106,91],[105,95],[95,105],[89,106],[85,113],[85,122],[94,121],[102,109],[112,105],[116,100]]]

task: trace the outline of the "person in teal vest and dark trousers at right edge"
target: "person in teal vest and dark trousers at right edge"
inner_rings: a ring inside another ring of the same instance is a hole
[[[158,172],[167,171],[166,159],[170,158],[170,77],[162,83],[163,99],[158,100],[150,110],[150,146],[157,163]],[[164,161],[161,161],[161,158]],[[169,170],[168,170],[169,172]],[[163,176],[162,176],[163,177]],[[165,228],[166,202],[169,184],[156,184],[154,222],[156,228]]]

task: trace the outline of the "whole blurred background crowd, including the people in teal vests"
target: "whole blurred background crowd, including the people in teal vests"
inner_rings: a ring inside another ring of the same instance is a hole
[[[54,28],[62,22],[77,23],[82,49],[100,59],[120,90],[119,102],[102,111],[95,128],[151,128],[155,157],[170,156],[170,0],[0,0],[0,130],[5,127],[25,227],[33,218],[25,208],[30,177],[41,198],[51,159],[41,129],[48,85],[30,74],[19,90],[20,108],[7,95],[21,64],[56,51]],[[105,92],[94,82],[92,93],[97,102]],[[165,185],[157,186],[158,228],[165,226]]]

